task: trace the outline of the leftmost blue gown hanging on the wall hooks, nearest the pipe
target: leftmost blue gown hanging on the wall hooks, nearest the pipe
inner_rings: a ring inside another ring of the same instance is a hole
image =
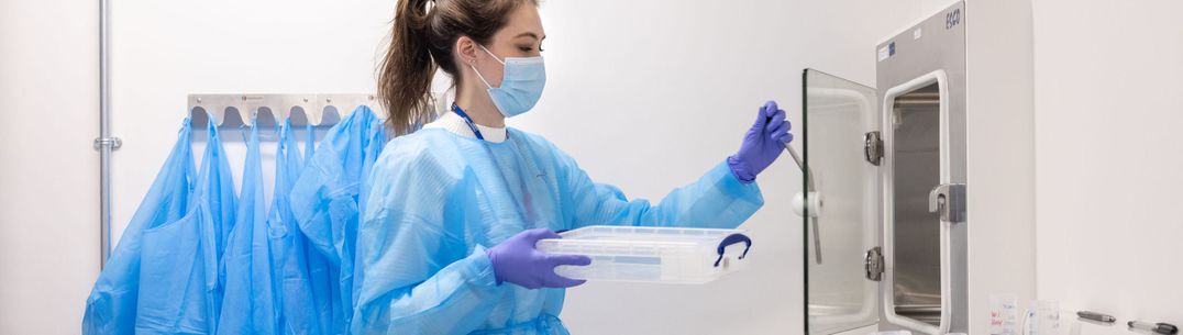
[[[144,230],[180,220],[188,213],[193,188],[192,128],[185,120],[164,166],[123,231],[118,246],[86,298],[82,333],[134,334],[140,298]]]

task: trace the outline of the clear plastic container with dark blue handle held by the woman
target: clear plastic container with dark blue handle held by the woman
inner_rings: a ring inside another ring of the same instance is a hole
[[[743,268],[751,247],[743,230],[588,226],[538,241],[550,253],[583,255],[587,266],[555,268],[560,276],[615,282],[703,284]]]

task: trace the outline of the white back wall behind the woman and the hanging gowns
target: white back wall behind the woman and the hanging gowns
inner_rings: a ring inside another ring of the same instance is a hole
[[[4,101],[24,107],[17,110],[56,101],[54,112],[78,114],[59,117],[78,122],[53,131],[31,127],[39,120],[32,114],[0,114],[5,143],[60,143],[5,144],[2,334],[76,333],[97,273],[97,9],[59,2],[5,1],[0,11]],[[115,155],[115,238],[175,140],[185,95],[371,91],[394,5],[112,2],[112,123],[124,140]],[[764,99],[800,120],[803,67],[874,83],[874,45],[946,4],[545,1],[548,91],[536,111],[510,123],[551,138],[600,181],[660,198],[732,153]],[[49,159],[59,170],[46,172],[40,162]],[[589,283],[570,291],[567,323],[577,334],[801,331],[801,220],[788,208],[800,173],[782,160],[761,185],[768,205],[746,225],[756,238],[749,272],[704,286]],[[46,246],[56,250],[41,253]]]

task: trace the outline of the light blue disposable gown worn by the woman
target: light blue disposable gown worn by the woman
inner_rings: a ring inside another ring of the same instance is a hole
[[[763,205],[725,162],[659,204],[595,183],[542,137],[491,143],[444,129],[390,141],[357,241],[354,334],[568,334],[563,289],[498,285],[485,249],[528,228],[736,227]]]

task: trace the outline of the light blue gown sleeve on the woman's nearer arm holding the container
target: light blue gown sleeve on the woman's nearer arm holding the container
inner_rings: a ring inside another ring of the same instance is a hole
[[[503,302],[476,220],[472,174],[433,154],[380,160],[358,234],[364,276],[353,334],[468,334]],[[413,162],[413,163],[412,163]],[[447,211],[445,211],[447,208]]]

